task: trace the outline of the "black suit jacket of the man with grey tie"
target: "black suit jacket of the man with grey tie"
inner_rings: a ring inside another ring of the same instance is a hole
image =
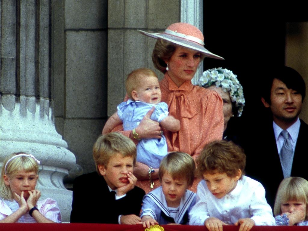
[[[308,144],[308,125],[301,121],[296,142],[291,176],[300,176],[308,180],[308,167],[305,161]],[[273,208],[280,182],[284,179],[278,155],[273,121],[266,124],[263,135],[254,137],[245,144],[246,174],[261,182],[265,188],[266,200]],[[249,145],[247,145],[249,144]]]

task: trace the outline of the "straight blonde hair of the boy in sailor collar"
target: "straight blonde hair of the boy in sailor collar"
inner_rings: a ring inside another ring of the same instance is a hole
[[[184,152],[170,152],[160,162],[159,180],[161,182],[165,172],[168,172],[173,179],[187,179],[188,186],[193,184],[196,165],[191,156]]]

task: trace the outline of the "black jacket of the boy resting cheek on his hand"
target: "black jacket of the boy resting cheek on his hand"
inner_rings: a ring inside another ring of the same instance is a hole
[[[74,181],[71,222],[118,224],[119,215],[139,217],[144,194],[135,186],[125,197],[115,200],[103,176],[97,172],[84,174]]]

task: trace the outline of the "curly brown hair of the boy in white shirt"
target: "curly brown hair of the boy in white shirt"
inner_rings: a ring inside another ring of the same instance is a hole
[[[217,171],[234,177],[239,169],[244,174],[246,156],[243,149],[232,141],[216,140],[205,145],[197,159],[197,165],[201,174]]]

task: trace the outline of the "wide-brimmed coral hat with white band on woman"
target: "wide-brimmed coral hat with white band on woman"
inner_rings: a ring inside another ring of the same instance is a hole
[[[138,30],[141,34],[152,38],[165,39],[169,42],[178,44],[182,47],[187,47],[196,51],[200,51],[205,56],[214,59],[224,59],[213,54],[204,47],[204,37],[202,32],[196,27],[185,22],[176,22],[168,26],[163,33],[149,33],[143,30]]]

